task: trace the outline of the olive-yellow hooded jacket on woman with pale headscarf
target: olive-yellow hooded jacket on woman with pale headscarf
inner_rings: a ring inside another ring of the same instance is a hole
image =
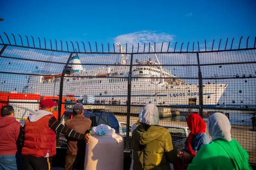
[[[134,170],[170,170],[177,150],[165,127],[140,124],[132,133]]]

